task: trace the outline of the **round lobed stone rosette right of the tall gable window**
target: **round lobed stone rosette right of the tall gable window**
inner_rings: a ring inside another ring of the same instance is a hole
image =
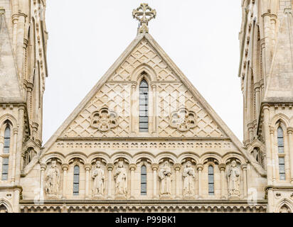
[[[170,126],[177,128],[179,131],[185,132],[191,128],[196,127],[196,113],[188,111],[188,109],[181,108],[174,111],[170,116]]]

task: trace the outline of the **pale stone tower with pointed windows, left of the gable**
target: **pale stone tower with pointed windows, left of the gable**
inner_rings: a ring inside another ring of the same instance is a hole
[[[21,174],[41,150],[45,10],[46,0],[0,0],[1,211],[18,211]]]

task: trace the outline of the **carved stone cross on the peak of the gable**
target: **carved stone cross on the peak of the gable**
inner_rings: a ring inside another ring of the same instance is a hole
[[[156,18],[156,10],[151,9],[148,4],[140,4],[139,8],[132,11],[133,18],[136,18],[139,21],[139,33],[148,33],[149,21]]]

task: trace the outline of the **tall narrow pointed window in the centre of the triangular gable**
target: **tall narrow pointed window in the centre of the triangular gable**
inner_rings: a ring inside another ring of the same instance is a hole
[[[139,85],[139,132],[149,132],[149,84],[145,79]]]

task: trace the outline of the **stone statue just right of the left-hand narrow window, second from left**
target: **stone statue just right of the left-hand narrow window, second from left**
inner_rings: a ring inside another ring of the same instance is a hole
[[[94,179],[93,194],[94,196],[102,196],[105,189],[105,174],[101,168],[101,162],[97,161],[95,164],[95,170],[92,172],[92,179]]]

